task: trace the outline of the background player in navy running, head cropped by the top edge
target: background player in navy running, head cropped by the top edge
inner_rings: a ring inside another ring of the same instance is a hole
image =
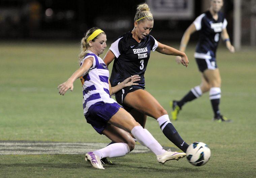
[[[170,103],[173,120],[177,119],[177,115],[185,103],[199,98],[203,93],[210,91],[209,95],[214,112],[213,120],[218,122],[231,121],[221,115],[219,110],[221,77],[216,63],[216,49],[220,37],[225,41],[230,52],[233,53],[235,51],[227,33],[227,20],[224,18],[223,13],[220,12],[222,6],[223,0],[211,0],[210,9],[199,15],[182,37],[180,51],[184,52],[190,35],[195,31],[199,31],[199,40],[194,57],[201,72],[201,84],[192,88],[180,101],[173,100]],[[180,63],[180,57],[177,57],[176,60]]]

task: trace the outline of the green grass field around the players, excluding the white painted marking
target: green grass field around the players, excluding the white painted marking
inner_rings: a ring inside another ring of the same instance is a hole
[[[170,100],[200,83],[193,50],[194,45],[188,47],[187,69],[174,57],[151,53],[146,90],[168,111]],[[80,81],[64,97],[56,89],[77,69],[78,53],[75,43],[0,43],[0,141],[109,143],[84,119]],[[186,158],[161,165],[152,152],[112,158],[116,165],[105,170],[93,169],[84,154],[0,155],[0,177],[256,177],[255,55],[255,48],[235,54],[218,50],[220,108],[232,123],[211,120],[208,94],[187,103],[179,120],[173,121],[187,143],[201,141],[211,148],[211,159],[202,167],[190,165]],[[148,118],[146,128],[163,146],[175,149],[153,118]]]

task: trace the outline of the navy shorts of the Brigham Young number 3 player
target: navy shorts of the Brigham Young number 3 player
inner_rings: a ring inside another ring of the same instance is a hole
[[[117,101],[119,104],[121,104],[121,105],[124,107],[124,109],[125,109],[126,111],[130,111],[132,108],[129,107],[129,106],[125,106],[125,105],[123,104],[124,98],[126,97],[126,95],[127,95],[128,93],[134,92],[134,91],[139,90],[139,89],[144,90],[145,87],[144,87],[144,86],[141,86],[141,85],[132,85],[132,86],[124,87],[122,90],[119,90],[119,91],[115,94],[115,96],[116,96],[116,101]]]

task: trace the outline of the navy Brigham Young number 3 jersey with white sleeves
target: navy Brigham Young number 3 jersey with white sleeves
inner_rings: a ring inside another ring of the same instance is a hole
[[[139,75],[139,86],[145,86],[144,73],[146,71],[150,51],[154,51],[158,46],[153,36],[147,35],[138,43],[131,32],[120,36],[111,44],[110,50],[115,55],[114,65],[110,77],[112,86],[124,81],[131,75]]]

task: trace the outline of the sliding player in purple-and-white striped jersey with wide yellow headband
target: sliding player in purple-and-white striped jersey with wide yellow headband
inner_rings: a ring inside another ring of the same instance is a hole
[[[64,83],[58,86],[59,93],[64,95],[73,90],[73,82],[81,78],[83,87],[83,108],[88,123],[99,133],[116,142],[105,148],[86,153],[86,161],[94,168],[104,169],[100,161],[104,157],[124,156],[134,149],[135,142],[131,133],[140,144],[148,147],[157,156],[157,161],[164,164],[168,160],[184,157],[186,153],[166,151],[155,138],[134,120],[123,107],[110,96],[127,86],[137,86],[138,75],[129,76],[118,85],[111,87],[108,80],[109,71],[99,57],[106,47],[106,35],[98,29],[88,30],[82,38],[82,52],[79,55],[80,68]]]

